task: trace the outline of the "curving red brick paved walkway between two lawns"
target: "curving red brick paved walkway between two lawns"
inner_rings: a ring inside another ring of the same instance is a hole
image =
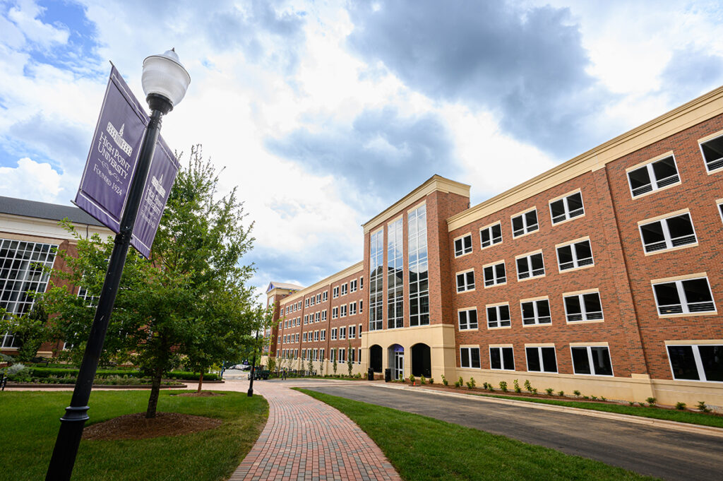
[[[400,480],[380,448],[348,417],[283,383],[254,383],[269,403],[259,439],[230,481]]]

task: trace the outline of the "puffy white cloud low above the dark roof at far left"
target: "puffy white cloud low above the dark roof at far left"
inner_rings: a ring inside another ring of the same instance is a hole
[[[67,203],[58,198],[63,191],[61,180],[61,174],[49,163],[27,157],[17,161],[17,167],[0,167],[0,193],[5,197]]]

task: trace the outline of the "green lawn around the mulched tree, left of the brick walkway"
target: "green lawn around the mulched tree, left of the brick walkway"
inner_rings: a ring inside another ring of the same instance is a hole
[[[173,391],[179,393],[182,391]],[[215,417],[223,424],[189,435],[144,440],[82,440],[73,480],[222,480],[236,469],[261,433],[268,404],[261,396],[170,396],[161,391],[159,412]],[[94,391],[90,421],[145,412],[149,391]],[[45,479],[59,417],[70,392],[0,393],[0,433],[5,480]]]

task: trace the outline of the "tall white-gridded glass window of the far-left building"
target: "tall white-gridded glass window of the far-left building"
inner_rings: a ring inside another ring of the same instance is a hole
[[[57,245],[0,239],[0,307],[8,314],[25,314],[33,307],[27,291],[45,292]],[[17,347],[12,333],[0,331],[0,347]]]

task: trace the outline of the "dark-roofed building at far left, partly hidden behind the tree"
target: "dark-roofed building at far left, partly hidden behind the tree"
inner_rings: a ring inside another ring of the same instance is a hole
[[[28,291],[45,292],[49,276],[43,266],[64,269],[56,250],[74,251],[76,242],[59,221],[68,218],[82,236],[112,235],[77,207],[0,197],[0,307],[23,314],[33,307]],[[40,357],[50,357],[61,345],[44,344]],[[0,352],[14,354],[17,344],[10,332],[0,332]]]

